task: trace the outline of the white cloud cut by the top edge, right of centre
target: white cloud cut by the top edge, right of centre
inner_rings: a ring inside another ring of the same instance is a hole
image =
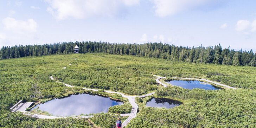
[[[155,14],[166,17],[179,12],[210,4],[215,0],[151,0],[154,4]]]

